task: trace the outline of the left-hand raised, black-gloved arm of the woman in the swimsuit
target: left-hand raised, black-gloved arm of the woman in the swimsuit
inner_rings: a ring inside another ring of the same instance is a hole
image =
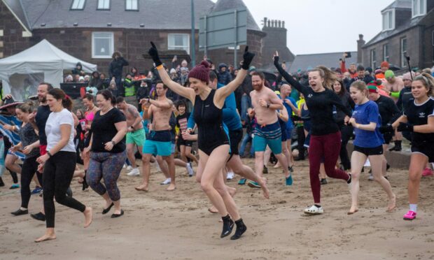
[[[183,96],[186,99],[192,101],[192,103],[195,103],[195,91],[188,87],[183,87],[179,85],[178,83],[174,82],[170,78],[170,76],[167,74],[167,71],[162,66],[160,57],[158,57],[157,47],[155,47],[155,44],[152,41],[151,41],[151,45],[152,47],[149,48],[148,54],[152,57],[162,82],[165,83],[165,85],[169,87],[169,89],[172,89],[172,91],[175,92],[176,94],[179,94],[180,96]]]

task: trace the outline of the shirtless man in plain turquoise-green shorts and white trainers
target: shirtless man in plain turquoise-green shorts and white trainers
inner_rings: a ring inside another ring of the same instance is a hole
[[[135,106],[125,102],[122,96],[118,96],[116,103],[118,103],[118,109],[127,117],[127,157],[132,166],[132,171],[127,173],[127,175],[139,175],[140,172],[136,165],[136,157],[134,157],[134,147],[137,145],[139,153],[142,154],[143,145],[145,143],[145,129],[141,123],[141,116],[139,110],[137,110]]]

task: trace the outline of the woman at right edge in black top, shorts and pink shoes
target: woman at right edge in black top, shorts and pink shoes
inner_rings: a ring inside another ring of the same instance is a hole
[[[412,156],[410,157],[408,200],[409,211],[405,220],[416,218],[419,185],[423,168],[428,162],[434,162],[434,78],[422,73],[412,82],[414,101],[409,102],[398,120],[383,127],[382,131],[409,131],[412,133]]]

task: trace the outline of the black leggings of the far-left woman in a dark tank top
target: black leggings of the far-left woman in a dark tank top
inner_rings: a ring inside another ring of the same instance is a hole
[[[30,201],[30,182],[33,179],[33,175],[38,170],[38,162],[36,159],[38,156],[26,158],[22,164],[21,169],[21,207],[27,208]],[[39,183],[42,184],[42,174],[36,173]]]

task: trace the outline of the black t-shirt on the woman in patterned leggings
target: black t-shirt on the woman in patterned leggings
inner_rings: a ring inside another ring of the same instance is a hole
[[[118,133],[115,124],[126,121],[124,113],[118,108],[112,108],[104,115],[100,115],[100,113],[101,111],[95,113],[92,121],[92,152],[118,153],[125,151],[125,137],[116,143],[111,151],[104,149],[105,143],[110,142]]]

